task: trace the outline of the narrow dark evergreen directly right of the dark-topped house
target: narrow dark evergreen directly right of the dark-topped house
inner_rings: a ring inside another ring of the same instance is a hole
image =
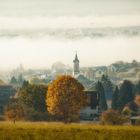
[[[98,81],[96,84],[96,90],[99,94],[99,111],[107,110],[107,103],[105,98],[104,87],[101,82]]]

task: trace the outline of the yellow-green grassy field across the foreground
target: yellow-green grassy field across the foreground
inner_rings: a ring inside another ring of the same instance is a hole
[[[0,122],[0,140],[140,140],[140,127]]]

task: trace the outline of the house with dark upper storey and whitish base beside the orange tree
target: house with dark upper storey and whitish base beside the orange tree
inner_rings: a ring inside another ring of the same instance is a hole
[[[88,105],[80,110],[81,120],[93,120],[98,117],[98,93],[96,91],[85,91]]]

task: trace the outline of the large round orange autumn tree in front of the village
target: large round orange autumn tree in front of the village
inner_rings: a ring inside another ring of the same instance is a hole
[[[47,109],[52,115],[69,122],[71,116],[79,115],[79,111],[87,104],[84,87],[71,76],[59,76],[48,86]]]

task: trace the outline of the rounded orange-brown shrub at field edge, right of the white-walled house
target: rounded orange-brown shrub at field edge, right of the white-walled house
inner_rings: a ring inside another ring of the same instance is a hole
[[[102,113],[101,123],[110,125],[121,125],[128,121],[128,118],[119,114],[118,111],[109,109]]]

